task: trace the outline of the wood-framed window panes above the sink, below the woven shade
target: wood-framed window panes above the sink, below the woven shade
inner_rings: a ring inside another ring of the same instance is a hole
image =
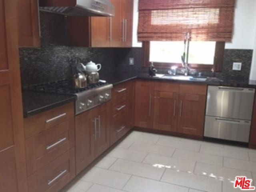
[[[189,46],[188,64],[197,70],[220,71],[222,69],[224,42],[192,41]],[[144,42],[144,66],[150,62],[158,68],[181,67],[184,52],[183,41]],[[206,51],[207,50],[207,51]]]

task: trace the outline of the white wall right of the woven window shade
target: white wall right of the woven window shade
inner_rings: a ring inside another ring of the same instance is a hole
[[[253,49],[256,32],[256,0],[237,0],[234,34],[226,49]]]

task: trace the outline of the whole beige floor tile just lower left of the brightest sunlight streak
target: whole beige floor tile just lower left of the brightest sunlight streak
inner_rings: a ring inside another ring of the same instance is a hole
[[[164,172],[164,168],[121,159],[117,160],[109,169],[154,180],[160,180]]]

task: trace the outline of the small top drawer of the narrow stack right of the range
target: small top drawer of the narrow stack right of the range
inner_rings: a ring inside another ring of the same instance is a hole
[[[124,102],[127,99],[127,87],[126,84],[120,84],[114,86],[112,90],[112,104],[113,106],[117,105],[120,102]]]

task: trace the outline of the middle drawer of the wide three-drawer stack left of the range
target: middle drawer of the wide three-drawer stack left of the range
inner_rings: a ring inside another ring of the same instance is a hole
[[[74,147],[74,118],[26,139],[28,175]]]

